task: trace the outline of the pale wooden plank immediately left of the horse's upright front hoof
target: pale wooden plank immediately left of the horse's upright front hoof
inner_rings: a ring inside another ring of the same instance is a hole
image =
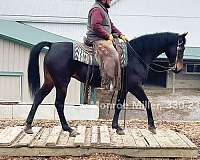
[[[100,145],[110,145],[108,126],[100,126]]]

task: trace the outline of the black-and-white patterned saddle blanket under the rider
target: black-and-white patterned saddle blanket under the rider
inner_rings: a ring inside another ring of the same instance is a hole
[[[120,54],[121,66],[124,67],[128,63],[127,56],[127,46],[124,42],[120,42],[118,45],[122,49],[122,53]],[[95,56],[96,52],[93,47],[89,47],[84,43],[80,43],[77,41],[73,42],[73,60],[83,62],[89,65],[99,66]]]

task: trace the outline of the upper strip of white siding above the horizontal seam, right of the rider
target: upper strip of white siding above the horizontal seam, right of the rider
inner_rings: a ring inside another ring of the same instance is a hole
[[[172,7],[173,5],[173,7]],[[180,7],[181,6],[181,7]],[[120,15],[154,15],[154,16],[200,16],[200,1],[197,0],[120,0],[110,10]]]

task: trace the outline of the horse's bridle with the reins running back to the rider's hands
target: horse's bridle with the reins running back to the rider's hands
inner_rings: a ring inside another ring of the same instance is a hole
[[[178,39],[178,44],[177,44],[177,48],[176,48],[176,59],[175,59],[175,62],[174,63],[169,63],[169,67],[165,67],[165,66],[162,66],[162,65],[159,65],[159,64],[156,64],[156,63],[152,63],[154,66],[158,66],[160,68],[162,68],[163,70],[157,70],[157,69],[154,69],[152,68],[150,65],[146,64],[146,62],[141,58],[141,56],[134,50],[134,48],[130,45],[130,43],[127,41],[126,42],[128,44],[128,46],[130,47],[131,49],[131,53],[134,53],[136,58],[142,62],[142,64],[148,68],[148,69],[151,69],[152,71],[155,71],[155,72],[167,72],[167,71],[175,71],[176,68],[177,68],[177,64],[178,64],[178,60],[179,59],[183,59],[183,52],[184,52],[184,49],[185,47],[182,46],[183,44],[183,40],[180,41]]]

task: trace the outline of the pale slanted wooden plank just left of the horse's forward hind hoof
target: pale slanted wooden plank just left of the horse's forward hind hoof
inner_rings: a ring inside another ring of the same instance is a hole
[[[49,147],[56,146],[58,142],[58,138],[61,134],[61,131],[62,131],[61,126],[54,126],[49,137],[47,138],[46,146],[49,146]]]

